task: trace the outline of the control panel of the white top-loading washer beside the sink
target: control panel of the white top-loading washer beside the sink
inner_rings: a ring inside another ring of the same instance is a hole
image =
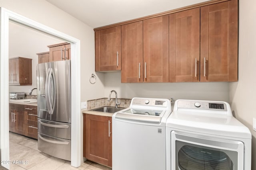
[[[144,105],[144,106],[167,106],[167,99],[146,99],[146,98],[134,98],[132,105]]]

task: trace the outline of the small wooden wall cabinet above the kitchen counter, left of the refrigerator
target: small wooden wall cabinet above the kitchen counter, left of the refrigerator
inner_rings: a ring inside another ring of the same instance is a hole
[[[32,59],[23,57],[9,59],[9,85],[32,85]]]

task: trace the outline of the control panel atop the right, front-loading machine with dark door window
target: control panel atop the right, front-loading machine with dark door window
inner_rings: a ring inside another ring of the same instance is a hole
[[[225,103],[214,102],[214,101],[206,102],[206,101],[180,100],[178,101],[178,108],[227,111],[227,106]]]

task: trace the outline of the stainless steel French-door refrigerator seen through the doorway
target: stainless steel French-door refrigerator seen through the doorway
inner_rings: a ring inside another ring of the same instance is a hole
[[[38,150],[71,158],[70,60],[37,66]]]

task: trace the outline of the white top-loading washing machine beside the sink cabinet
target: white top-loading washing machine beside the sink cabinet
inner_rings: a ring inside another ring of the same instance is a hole
[[[133,98],[112,116],[112,170],[166,170],[167,99]]]

